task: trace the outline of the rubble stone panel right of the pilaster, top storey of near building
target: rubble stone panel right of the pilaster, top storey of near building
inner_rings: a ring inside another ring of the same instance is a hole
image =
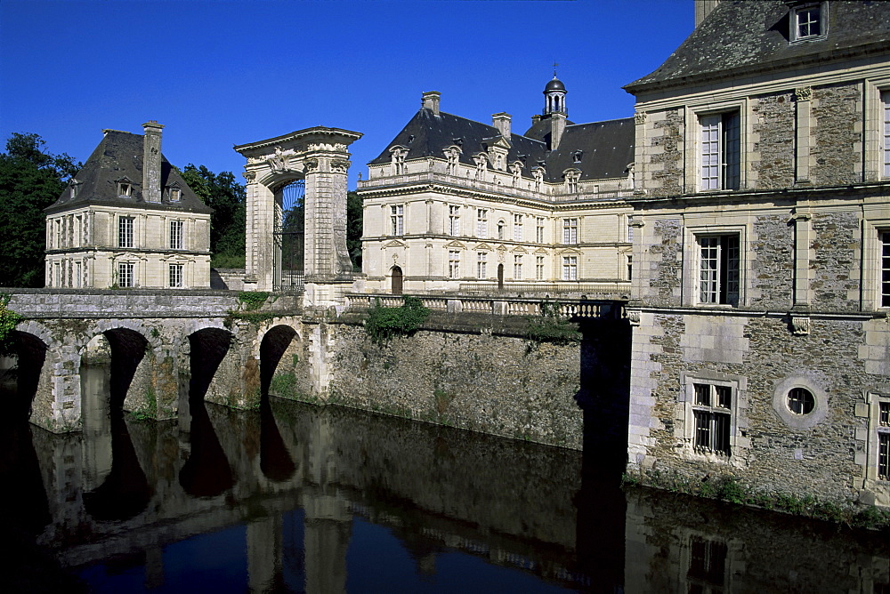
[[[862,90],[859,84],[813,88],[810,177],[816,186],[862,181]],[[857,148],[859,148],[857,150]]]

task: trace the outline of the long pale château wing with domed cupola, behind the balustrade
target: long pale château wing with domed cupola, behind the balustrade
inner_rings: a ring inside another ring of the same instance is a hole
[[[545,95],[520,135],[424,94],[359,182],[362,291],[627,293],[633,120],[573,124],[562,82]]]

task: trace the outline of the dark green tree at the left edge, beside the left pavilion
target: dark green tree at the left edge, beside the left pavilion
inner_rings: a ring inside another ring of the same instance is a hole
[[[44,152],[37,134],[13,132],[0,153],[0,285],[43,286],[46,214],[83,164]]]

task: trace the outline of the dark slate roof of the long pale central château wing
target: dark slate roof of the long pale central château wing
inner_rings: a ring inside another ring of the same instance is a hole
[[[543,135],[545,127],[546,136]],[[530,138],[530,133],[536,132],[541,133],[542,138]],[[581,180],[619,178],[627,175],[627,165],[634,160],[633,118],[566,125],[560,146],[554,151],[547,148],[549,132],[550,120],[544,119],[533,124],[525,135],[510,135],[512,147],[507,153],[507,163],[516,160],[524,162],[522,177],[531,178],[531,168],[543,162],[546,165],[546,181],[562,181],[562,172],[570,167],[581,170]],[[463,150],[461,163],[475,165],[473,155],[487,150],[486,144],[498,137],[498,129],[488,124],[444,112],[435,116],[432,110],[420,108],[401,132],[386,145],[383,152],[368,165],[390,163],[392,157],[389,149],[395,145],[409,149],[405,157],[409,160],[441,158],[442,151],[453,144]],[[573,156],[578,150],[581,151],[580,163],[575,163]]]

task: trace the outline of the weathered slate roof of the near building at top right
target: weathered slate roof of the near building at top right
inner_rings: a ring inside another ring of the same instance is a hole
[[[684,84],[745,70],[783,68],[811,59],[842,57],[846,49],[890,49],[890,3],[833,0],[827,35],[790,43],[791,8],[784,0],[723,0],[650,75],[624,88]],[[823,20],[824,22],[824,20]]]

